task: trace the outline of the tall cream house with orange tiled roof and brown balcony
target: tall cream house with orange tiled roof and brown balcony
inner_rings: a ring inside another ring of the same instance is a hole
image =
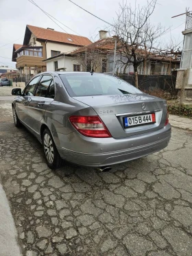
[[[90,43],[91,40],[84,36],[58,32],[49,27],[45,29],[27,25],[23,45],[13,45],[12,61],[16,62],[16,68],[21,75],[36,75],[47,69],[43,60],[58,56],[62,52],[69,53]],[[53,67],[51,70],[54,70]]]

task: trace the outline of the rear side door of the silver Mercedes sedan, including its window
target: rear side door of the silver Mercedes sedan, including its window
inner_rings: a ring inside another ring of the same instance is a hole
[[[54,98],[54,80],[52,75],[43,75],[36,88],[36,93],[31,97],[31,101],[27,106],[27,115],[29,118],[29,126],[40,134],[40,121],[47,106]]]

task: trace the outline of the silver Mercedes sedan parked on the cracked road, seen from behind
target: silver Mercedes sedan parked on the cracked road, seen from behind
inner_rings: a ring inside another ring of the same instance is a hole
[[[37,137],[52,169],[64,159],[110,170],[162,150],[171,138],[165,100],[103,73],[40,73],[12,95],[15,126]]]

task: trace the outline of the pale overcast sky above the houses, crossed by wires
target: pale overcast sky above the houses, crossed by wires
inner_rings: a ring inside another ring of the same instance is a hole
[[[70,27],[77,34],[88,38],[98,38],[99,30],[106,29],[108,25],[91,14],[84,12],[69,0],[34,0],[40,8],[54,16],[56,19]],[[112,23],[116,18],[121,0],[73,0],[82,8],[99,16],[101,19]],[[134,0],[127,0],[134,5]],[[137,0],[140,5],[145,5],[147,0]],[[171,27],[171,32],[167,33],[162,40],[169,41],[170,38],[180,43],[182,41],[182,30],[184,30],[185,15],[171,19],[182,12],[185,8],[192,9],[191,0],[158,0],[152,23],[161,23],[165,27]],[[26,25],[38,27],[51,27],[54,30],[64,32],[58,25],[53,23],[41,10],[36,8],[27,0],[0,0],[0,66],[11,65],[13,43],[23,44]],[[69,34],[75,32],[61,25]],[[109,28],[108,28],[109,29]],[[9,43],[9,44],[8,44]],[[6,45],[8,44],[8,45]],[[5,45],[5,46],[3,46]],[[181,43],[182,45],[182,43]],[[5,58],[2,58],[5,57]]]

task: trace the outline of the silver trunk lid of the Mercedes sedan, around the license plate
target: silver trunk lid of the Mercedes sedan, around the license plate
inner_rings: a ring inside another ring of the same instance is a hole
[[[115,139],[139,135],[158,130],[165,126],[167,104],[165,100],[147,94],[98,95],[73,97],[91,106]],[[143,107],[143,103],[144,107]],[[155,113],[156,122],[125,128],[124,118],[147,113]]]

